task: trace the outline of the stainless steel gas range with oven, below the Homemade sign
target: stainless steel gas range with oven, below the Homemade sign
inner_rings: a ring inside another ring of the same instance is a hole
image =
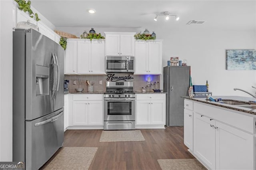
[[[106,82],[104,130],[135,129],[133,82]]]

